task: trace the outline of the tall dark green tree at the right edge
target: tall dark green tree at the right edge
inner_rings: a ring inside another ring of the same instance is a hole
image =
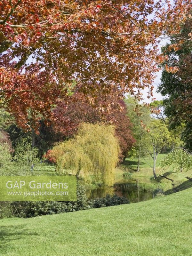
[[[192,150],[192,19],[186,20],[180,32],[163,47],[168,57],[159,85],[159,92],[164,99],[165,115],[170,127],[185,125],[182,140],[185,147]],[[168,95],[168,97],[167,97]]]

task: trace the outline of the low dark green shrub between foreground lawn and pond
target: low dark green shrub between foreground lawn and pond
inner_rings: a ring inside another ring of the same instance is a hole
[[[119,205],[119,204],[129,204],[129,200],[125,197],[117,196],[117,195],[107,195],[103,198],[96,198],[90,200],[90,204],[92,208],[100,208],[100,207],[106,207],[106,206],[113,206],[113,205]]]

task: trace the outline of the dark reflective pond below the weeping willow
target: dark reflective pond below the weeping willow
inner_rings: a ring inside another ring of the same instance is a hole
[[[87,189],[88,199],[101,198],[106,195],[116,194],[129,199],[131,203],[146,201],[153,198],[153,192],[140,188],[139,180],[122,180],[113,187],[102,186],[99,188]]]

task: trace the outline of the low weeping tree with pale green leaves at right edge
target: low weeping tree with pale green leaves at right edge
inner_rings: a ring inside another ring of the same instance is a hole
[[[171,165],[177,172],[182,172],[184,168],[188,171],[192,168],[192,154],[184,148],[174,148],[159,163],[163,169]]]

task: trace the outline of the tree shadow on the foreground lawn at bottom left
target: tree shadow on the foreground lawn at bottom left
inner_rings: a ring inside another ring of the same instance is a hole
[[[26,225],[0,226],[0,255],[1,252],[14,250],[12,242],[30,236],[38,236],[38,233],[29,232]],[[17,242],[19,244],[19,241]]]

